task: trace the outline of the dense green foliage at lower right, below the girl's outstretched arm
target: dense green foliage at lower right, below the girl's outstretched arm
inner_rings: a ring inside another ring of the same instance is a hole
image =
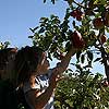
[[[109,87],[99,73],[88,70],[64,75],[56,92],[57,109],[105,109],[109,108]]]

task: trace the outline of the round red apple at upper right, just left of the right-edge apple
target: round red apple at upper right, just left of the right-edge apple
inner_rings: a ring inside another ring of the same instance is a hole
[[[104,21],[101,20],[101,17],[94,19],[93,25],[96,29],[100,29],[104,27]]]

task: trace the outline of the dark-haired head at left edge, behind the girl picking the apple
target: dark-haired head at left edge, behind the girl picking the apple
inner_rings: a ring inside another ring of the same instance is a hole
[[[0,77],[1,80],[12,78],[12,71],[16,48],[4,48],[0,50]]]

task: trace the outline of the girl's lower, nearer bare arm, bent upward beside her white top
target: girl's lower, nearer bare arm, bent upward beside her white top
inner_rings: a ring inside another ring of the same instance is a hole
[[[43,93],[40,90],[29,90],[26,93],[26,98],[28,102],[34,106],[35,109],[43,109],[56,89],[56,82],[57,75],[53,73],[50,78],[49,87]]]

